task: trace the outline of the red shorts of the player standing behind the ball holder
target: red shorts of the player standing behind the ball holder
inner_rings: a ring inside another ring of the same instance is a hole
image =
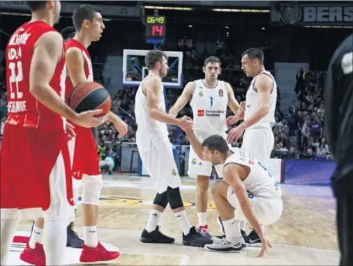
[[[100,175],[98,150],[90,129],[76,130],[69,148],[73,158],[73,178],[81,180],[84,174]]]

